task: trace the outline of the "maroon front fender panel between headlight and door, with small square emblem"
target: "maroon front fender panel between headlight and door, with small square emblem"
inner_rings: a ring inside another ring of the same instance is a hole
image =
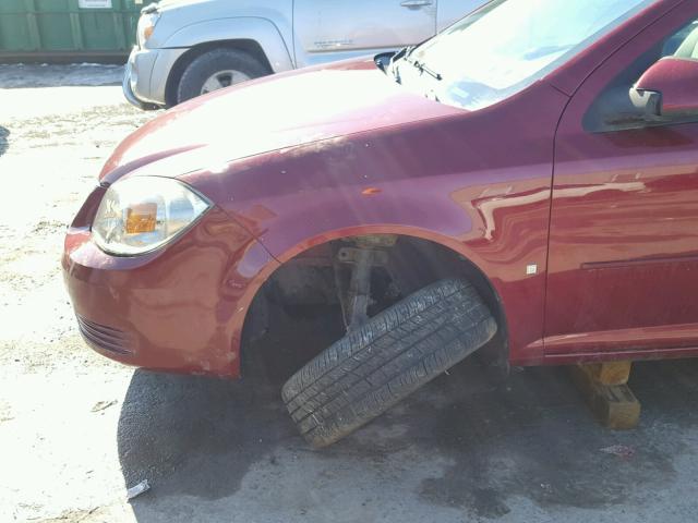
[[[566,102],[539,83],[489,109],[348,133],[184,178],[280,263],[358,234],[445,245],[501,296],[510,362],[541,363],[552,143]]]

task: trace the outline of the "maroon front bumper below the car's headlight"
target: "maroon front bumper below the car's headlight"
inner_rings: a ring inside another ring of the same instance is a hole
[[[104,188],[95,193],[70,228],[62,257],[85,341],[130,365],[238,376],[246,311],[273,258],[217,207],[163,250],[108,255],[85,223]]]

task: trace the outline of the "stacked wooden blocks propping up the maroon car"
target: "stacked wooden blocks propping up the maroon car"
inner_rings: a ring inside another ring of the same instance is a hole
[[[640,421],[640,402],[626,384],[604,385],[581,365],[571,376],[594,416],[614,430],[635,428]]]

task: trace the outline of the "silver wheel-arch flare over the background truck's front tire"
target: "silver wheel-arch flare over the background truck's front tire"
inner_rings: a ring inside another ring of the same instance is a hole
[[[206,20],[181,27],[163,42],[161,48],[192,48],[222,40],[254,40],[262,47],[275,73],[293,69],[291,53],[278,27],[269,20],[238,16]]]

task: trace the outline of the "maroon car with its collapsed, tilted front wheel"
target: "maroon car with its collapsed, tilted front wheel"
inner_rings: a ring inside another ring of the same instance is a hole
[[[65,239],[87,342],[237,377],[269,303],[346,336],[286,382],[314,446],[478,350],[698,355],[698,1],[495,0],[395,54],[129,136]]]

